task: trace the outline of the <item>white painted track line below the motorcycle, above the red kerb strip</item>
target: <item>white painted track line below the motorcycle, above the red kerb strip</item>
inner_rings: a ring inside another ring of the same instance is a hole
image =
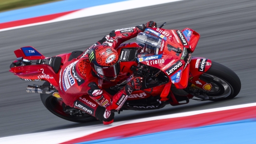
[[[80,127],[80,128],[52,130],[52,131],[46,131],[46,132],[37,132],[37,133],[31,133],[31,134],[2,137],[0,138],[0,144],[58,144],[58,143],[66,142],[68,140],[80,138],[82,136],[95,133],[97,131],[106,130],[106,129],[110,129],[110,128],[125,125],[125,124],[132,124],[132,123],[139,123],[139,122],[167,119],[167,118],[176,118],[176,117],[183,117],[183,116],[190,116],[190,115],[199,115],[199,114],[218,112],[218,111],[224,111],[224,110],[252,107],[252,106],[256,106],[256,102],[241,104],[241,105],[234,105],[234,106],[227,106],[227,107],[220,107],[220,108],[213,108],[213,109],[206,109],[206,110],[199,110],[199,111],[192,111],[192,112],[185,112],[185,113],[178,113],[178,114],[161,115],[161,116],[153,116],[153,117],[140,118],[140,119],[134,119],[134,120],[126,120],[126,121],[114,122],[111,125],[99,124],[99,125],[86,126],[86,127]]]

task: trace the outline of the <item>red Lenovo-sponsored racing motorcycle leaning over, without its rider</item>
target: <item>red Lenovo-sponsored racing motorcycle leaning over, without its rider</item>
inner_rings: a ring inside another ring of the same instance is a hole
[[[166,104],[176,106],[189,103],[190,99],[222,101],[236,97],[241,83],[235,72],[208,58],[192,57],[200,35],[189,28],[161,29],[165,24],[145,29],[137,35],[137,43],[117,48],[120,73],[114,82],[104,81],[102,88],[114,95],[133,76],[144,77],[142,90],[134,91],[118,113],[160,109]],[[41,86],[27,86],[27,92],[40,93],[51,113],[73,122],[95,119],[88,112],[65,105],[58,93],[61,67],[73,58],[82,57],[82,51],[46,58],[26,46],[14,53],[17,58],[10,65],[10,72],[25,81],[46,81]]]

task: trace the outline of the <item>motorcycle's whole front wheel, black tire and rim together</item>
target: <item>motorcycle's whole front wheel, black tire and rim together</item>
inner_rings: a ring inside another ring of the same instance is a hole
[[[209,101],[228,100],[239,94],[241,89],[240,78],[224,65],[212,61],[210,69],[204,75],[213,77],[210,82],[212,88],[206,94]]]

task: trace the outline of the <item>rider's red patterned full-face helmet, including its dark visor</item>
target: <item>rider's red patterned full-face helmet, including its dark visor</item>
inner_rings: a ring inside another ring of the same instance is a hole
[[[108,45],[96,45],[89,53],[93,71],[102,79],[114,81],[120,72],[118,53]]]

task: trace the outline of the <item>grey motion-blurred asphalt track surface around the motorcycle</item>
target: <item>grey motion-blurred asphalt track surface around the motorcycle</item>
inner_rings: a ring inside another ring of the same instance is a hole
[[[150,20],[159,26],[167,22],[165,29],[189,27],[200,33],[192,56],[211,59],[236,72],[241,91],[228,101],[192,100],[154,111],[124,111],[116,114],[115,121],[256,102],[256,0],[184,0],[0,32],[0,137],[100,124],[73,123],[51,114],[38,94],[25,90],[27,85],[42,82],[22,81],[8,72],[16,58],[14,50],[31,45],[46,57],[84,50],[113,29]]]

